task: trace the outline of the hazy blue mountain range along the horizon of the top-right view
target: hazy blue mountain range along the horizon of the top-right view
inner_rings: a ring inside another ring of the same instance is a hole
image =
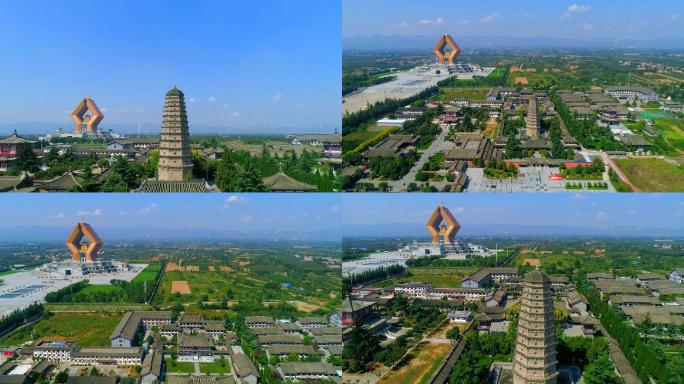
[[[460,36],[452,33],[465,50],[483,48],[573,48],[573,49],[684,49],[682,38],[573,39],[558,37]],[[439,36],[353,36],[342,38],[343,50],[424,50],[431,52]]]

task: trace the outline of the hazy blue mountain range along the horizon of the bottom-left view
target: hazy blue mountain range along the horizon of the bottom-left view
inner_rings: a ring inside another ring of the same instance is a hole
[[[339,241],[336,229],[316,231],[273,230],[221,230],[221,229],[167,229],[167,228],[95,228],[103,241],[112,240],[310,240]],[[3,228],[0,242],[65,241],[71,232],[66,227],[14,227]]]

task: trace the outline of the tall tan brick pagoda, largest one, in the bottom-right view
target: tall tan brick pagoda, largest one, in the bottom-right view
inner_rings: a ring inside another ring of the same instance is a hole
[[[513,384],[556,384],[557,363],[551,280],[536,270],[523,281]]]

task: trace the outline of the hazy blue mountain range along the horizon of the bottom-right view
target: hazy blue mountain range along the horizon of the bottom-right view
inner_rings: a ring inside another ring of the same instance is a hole
[[[374,225],[345,225],[342,229],[344,237],[416,237],[428,233],[421,224],[374,224]],[[501,237],[668,237],[684,238],[684,228],[640,228],[640,227],[579,227],[564,225],[467,225],[458,232],[463,236],[501,236]]]

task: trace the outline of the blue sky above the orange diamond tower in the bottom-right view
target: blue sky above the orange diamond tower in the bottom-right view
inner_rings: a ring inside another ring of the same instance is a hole
[[[684,228],[682,194],[344,194],[344,227],[424,224],[444,204],[463,226]]]

